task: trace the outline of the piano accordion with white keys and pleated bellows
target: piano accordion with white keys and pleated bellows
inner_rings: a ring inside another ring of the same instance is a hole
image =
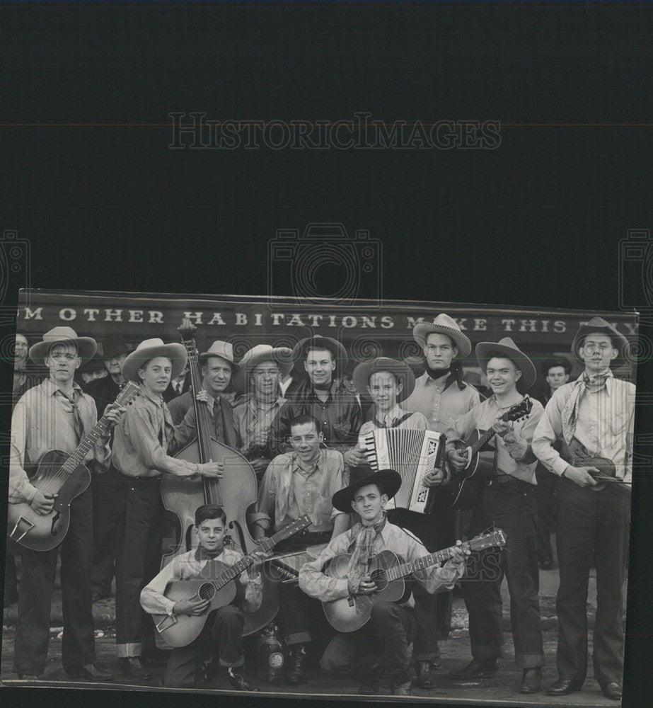
[[[362,442],[372,469],[395,469],[401,475],[401,487],[386,508],[428,513],[431,489],[422,480],[436,467],[444,467],[445,435],[434,430],[376,428]]]

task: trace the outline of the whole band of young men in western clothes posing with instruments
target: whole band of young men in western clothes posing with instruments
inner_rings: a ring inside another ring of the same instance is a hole
[[[243,613],[260,607],[265,554],[253,554],[249,571],[238,578],[236,600],[214,612],[195,641],[172,652],[161,651],[155,642],[151,615],[200,615],[208,607],[197,595],[180,601],[166,598],[169,582],[199,576],[211,559],[233,565],[242,558],[224,544],[229,520],[223,508],[208,504],[195,514],[192,547],[161,569],[162,476],[202,475],[219,483],[224,475],[221,462],[197,464],[175,457],[197,435],[195,395],[207,406],[214,438],[244,455],[255,471],[258,499],[248,518],[254,539],[260,541],[308,515],[309,532],[288,539],[276,552],[323,546],[301,567],[297,584],[279,585],[277,621],[288,648],[289,682],[306,680],[311,632],[322,615],[316,612],[319,603],[373,596],[379,590],[369,574],[374,556],[391,550],[412,561],[452,547],[449,561],[414,573],[417,584],[403,604],[379,600],[371,604],[371,619],[363,631],[335,633],[320,666],[360,677],[364,695],[379,692],[383,675],[390,678],[393,694],[410,695],[412,644],[417,682],[434,687],[434,670],[440,666],[438,641],[449,632],[451,588],[459,582],[469,613],[472,659],[451,677],[490,678],[499,668],[503,641],[500,586],[505,576],[515,661],[523,670],[519,691],[539,692],[544,653],[536,489],[546,479],[557,487],[560,563],[558,680],[548,694],[580,690],[586,678],[585,604],[596,548],[594,675],[604,695],[620,700],[635,387],[614,377],[612,369],[627,357],[628,341],[599,317],[583,324],[571,348],[573,358],[584,366],[582,375],[557,388],[553,375],[551,381],[547,378],[552,395],[546,405],[533,400],[527,418],[507,422],[504,414],[524,400],[536,381],[533,362],[511,338],[476,345],[475,358],[491,391],[481,401],[478,391],[463,380],[461,362],[470,357],[472,345],[454,319],[439,314],[432,323],[417,324],[413,336],[426,365],[417,379],[405,362],[390,358],[360,362],[352,371],[357,392],[373,404],[364,416],[360,400],[334,385],[347,365],[347,351],[332,338],[306,338],[294,350],[258,345],[240,362],[234,360],[231,344],[215,341],[199,356],[200,391],[186,392],[168,405],[163,394],[187,363],[180,343],[150,339],[127,354],[124,343],[111,338],[104,343],[109,376],[82,392],[74,374],[96,353],[96,342],[69,327],[45,333],[30,347],[29,356],[45,364],[50,377],[25,392],[13,413],[9,503],[28,503],[38,514],[50,513],[55,495],[30,484],[40,457],[48,450],[74,452],[103,414],[108,431],[88,450],[86,464],[93,481],[71,503],[63,542],[49,552],[21,547],[13,667],[19,677],[37,680],[45,670],[60,550],[62,663],[69,677],[112,678],[96,664],[91,603],[110,594],[115,556],[117,658],[125,676],[145,680],[151,666],[165,661],[164,685],[196,687],[207,680],[202,667],[213,654],[231,686],[251,689],[243,671]],[[282,396],[279,382],[292,367],[306,377],[293,382]],[[120,407],[115,399],[127,381],[140,385],[140,395]],[[241,392],[235,404],[224,395],[230,382]],[[396,470],[374,472],[370,467],[363,443],[375,428],[428,429],[446,436],[446,469],[434,469],[424,479],[424,486],[433,489],[430,513],[386,511],[402,476]],[[490,429],[495,433],[488,443],[492,474],[475,493],[468,533],[471,537],[496,525],[507,534],[507,547],[486,564],[486,570],[496,572],[466,578],[469,551],[456,542],[456,512],[443,481],[457,479],[469,462],[456,441]],[[611,460],[618,484],[594,491],[599,469],[585,464],[578,446],[587,459]],[[350,554],[342,578],[326,571],[328,561],[339,554]]]

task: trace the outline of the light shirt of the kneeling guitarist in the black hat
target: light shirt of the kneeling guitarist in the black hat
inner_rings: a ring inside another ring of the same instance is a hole
[[[323,603],[349,597],[347,578],[330,578],[322,572],[322,569],[335,556],[351,553],[355,540],[353,529],[349,529],[340,534],[340,536],[331,539],[328,546],[315,560],[301,566],[299,587],[307,595],[311,595],[312,598],[318,598]],[[400,556],[403,561],[416,561],[423,556],[429,555],[420,539],[389,522],[386,522],[381,533],[376,535],[372,542],[371,556],[376,556],[381,551],[386,550]],[[456,569],[456,566],[450,565],[446,568],[441,568],[436,564],[429,568],[415,571],[412,576],[428,593],[435,593],[437,590],[451,590],[453,584],[464,573],[464,569],[464,565]],[[412,594],[405,605],[414,607],[415,600],[413,600]]]

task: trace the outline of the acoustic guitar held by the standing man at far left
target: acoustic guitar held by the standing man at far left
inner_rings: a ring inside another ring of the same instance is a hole
[[[114,405],[127,406],[139,395],[139,385],[129,382]],[[56,494],[54,505],[50,513],[39,514],[26,502],[9,504],[9,538],[33,551],[50,551],[64,540],[70,525],[71,502],[91,484],[91,473],[84,459],[100,436],[106,435],[108,427],[109,420],[103,414],[72,455],[61,450],[50,450],[42,455],[30,484],[44,493]]]

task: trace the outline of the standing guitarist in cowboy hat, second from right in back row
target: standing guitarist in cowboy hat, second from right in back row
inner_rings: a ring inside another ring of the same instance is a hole
[[[505,573],[510,591],[515,663],[523,669],[519,691],[536,693],[541,688],[544,651],[535,528],[537,461],[531,451],[531,440],[543,408],[539,401],[533,400],[526,420],[516,423],[498,420],[524,399],[517,389],[518,384],[521,390],[526,390],[536,379],[533,362],[511,338],[504,337],[498,343],[478,343],[476,359],[485,372],[492,396],[449,428],[447,457],[451,467],[461,472],[468,460],[463,452],[453,449],[453,440],[466,440],[477,428],[493,428],[497,433],[490,441],[496,448],[492,483],[476,498],[469,532],[475,534],[490,523],[497,524],[507,533],[507,553],[500,556],[501,571],[495,573],[495,578],[463,583],[473,658],[464,668],[451,672],[451,677],[489,678],[496,673],[503,642],[501,609],[496,598]]]

